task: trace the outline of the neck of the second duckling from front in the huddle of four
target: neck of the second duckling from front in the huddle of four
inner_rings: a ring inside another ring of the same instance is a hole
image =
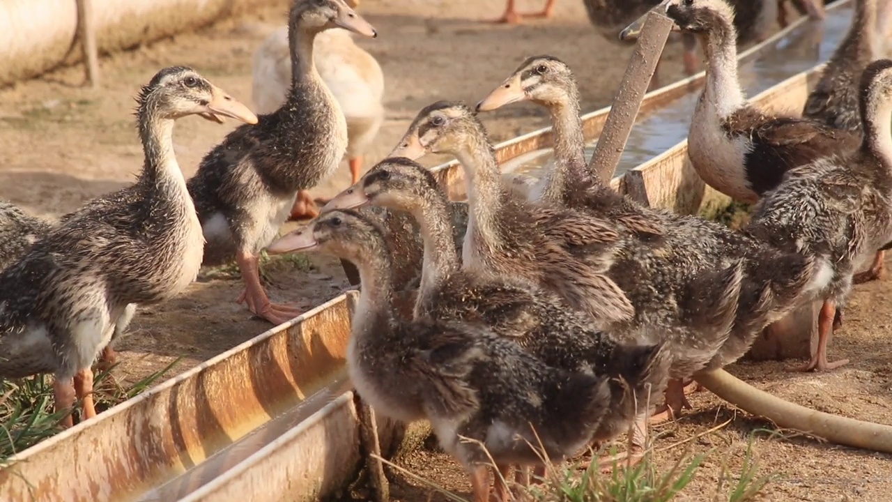
[[[412,216],[418,222],[421,238],[425,243],[424,262],[421,267],[419,295],[424,297],[439,288],[444,278],[458,270],[458,253],[452,240],[452,222],[449,202],[438,189],[432,189],[424,202],[416,205]]]

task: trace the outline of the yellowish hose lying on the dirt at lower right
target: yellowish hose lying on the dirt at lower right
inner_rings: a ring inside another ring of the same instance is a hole
[[[892,427],[888,425],[795,405],[756,389],[724,370],[698,374],[695,380],[732,405],[763,416],[781,428],[806,432],[838,445],[892,453]]]

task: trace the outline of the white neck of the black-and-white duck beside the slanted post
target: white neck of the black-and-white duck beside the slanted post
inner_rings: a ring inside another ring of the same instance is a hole
[[[725,19],[717,19],[714,29],[700,36],[706,52],[706,88],[703,98],[713,104],[721,117],[727,117],[745,104],[737,76],[737,34]]]

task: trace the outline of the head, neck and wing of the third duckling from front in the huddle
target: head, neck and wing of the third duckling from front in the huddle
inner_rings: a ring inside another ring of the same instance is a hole
[[[391,156],[416,159],[434,151],[457,155],[466,172],[466,268],[540,284],[599,322],[632,319],[629,299],[604,274],[625,238],[615,225],[568,209],[533,211],[512,197],[500,183],[483,124],[462,103],[425,107]]]

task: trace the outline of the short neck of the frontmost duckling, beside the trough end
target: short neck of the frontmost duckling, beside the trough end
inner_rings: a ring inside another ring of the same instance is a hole
[[[359,269],[359,305],[353,313],[353,325],[368,326],[375,330],[381,322],[391,322],[393,286],[391,280],[391,260],[384,247],[353,261]]]

